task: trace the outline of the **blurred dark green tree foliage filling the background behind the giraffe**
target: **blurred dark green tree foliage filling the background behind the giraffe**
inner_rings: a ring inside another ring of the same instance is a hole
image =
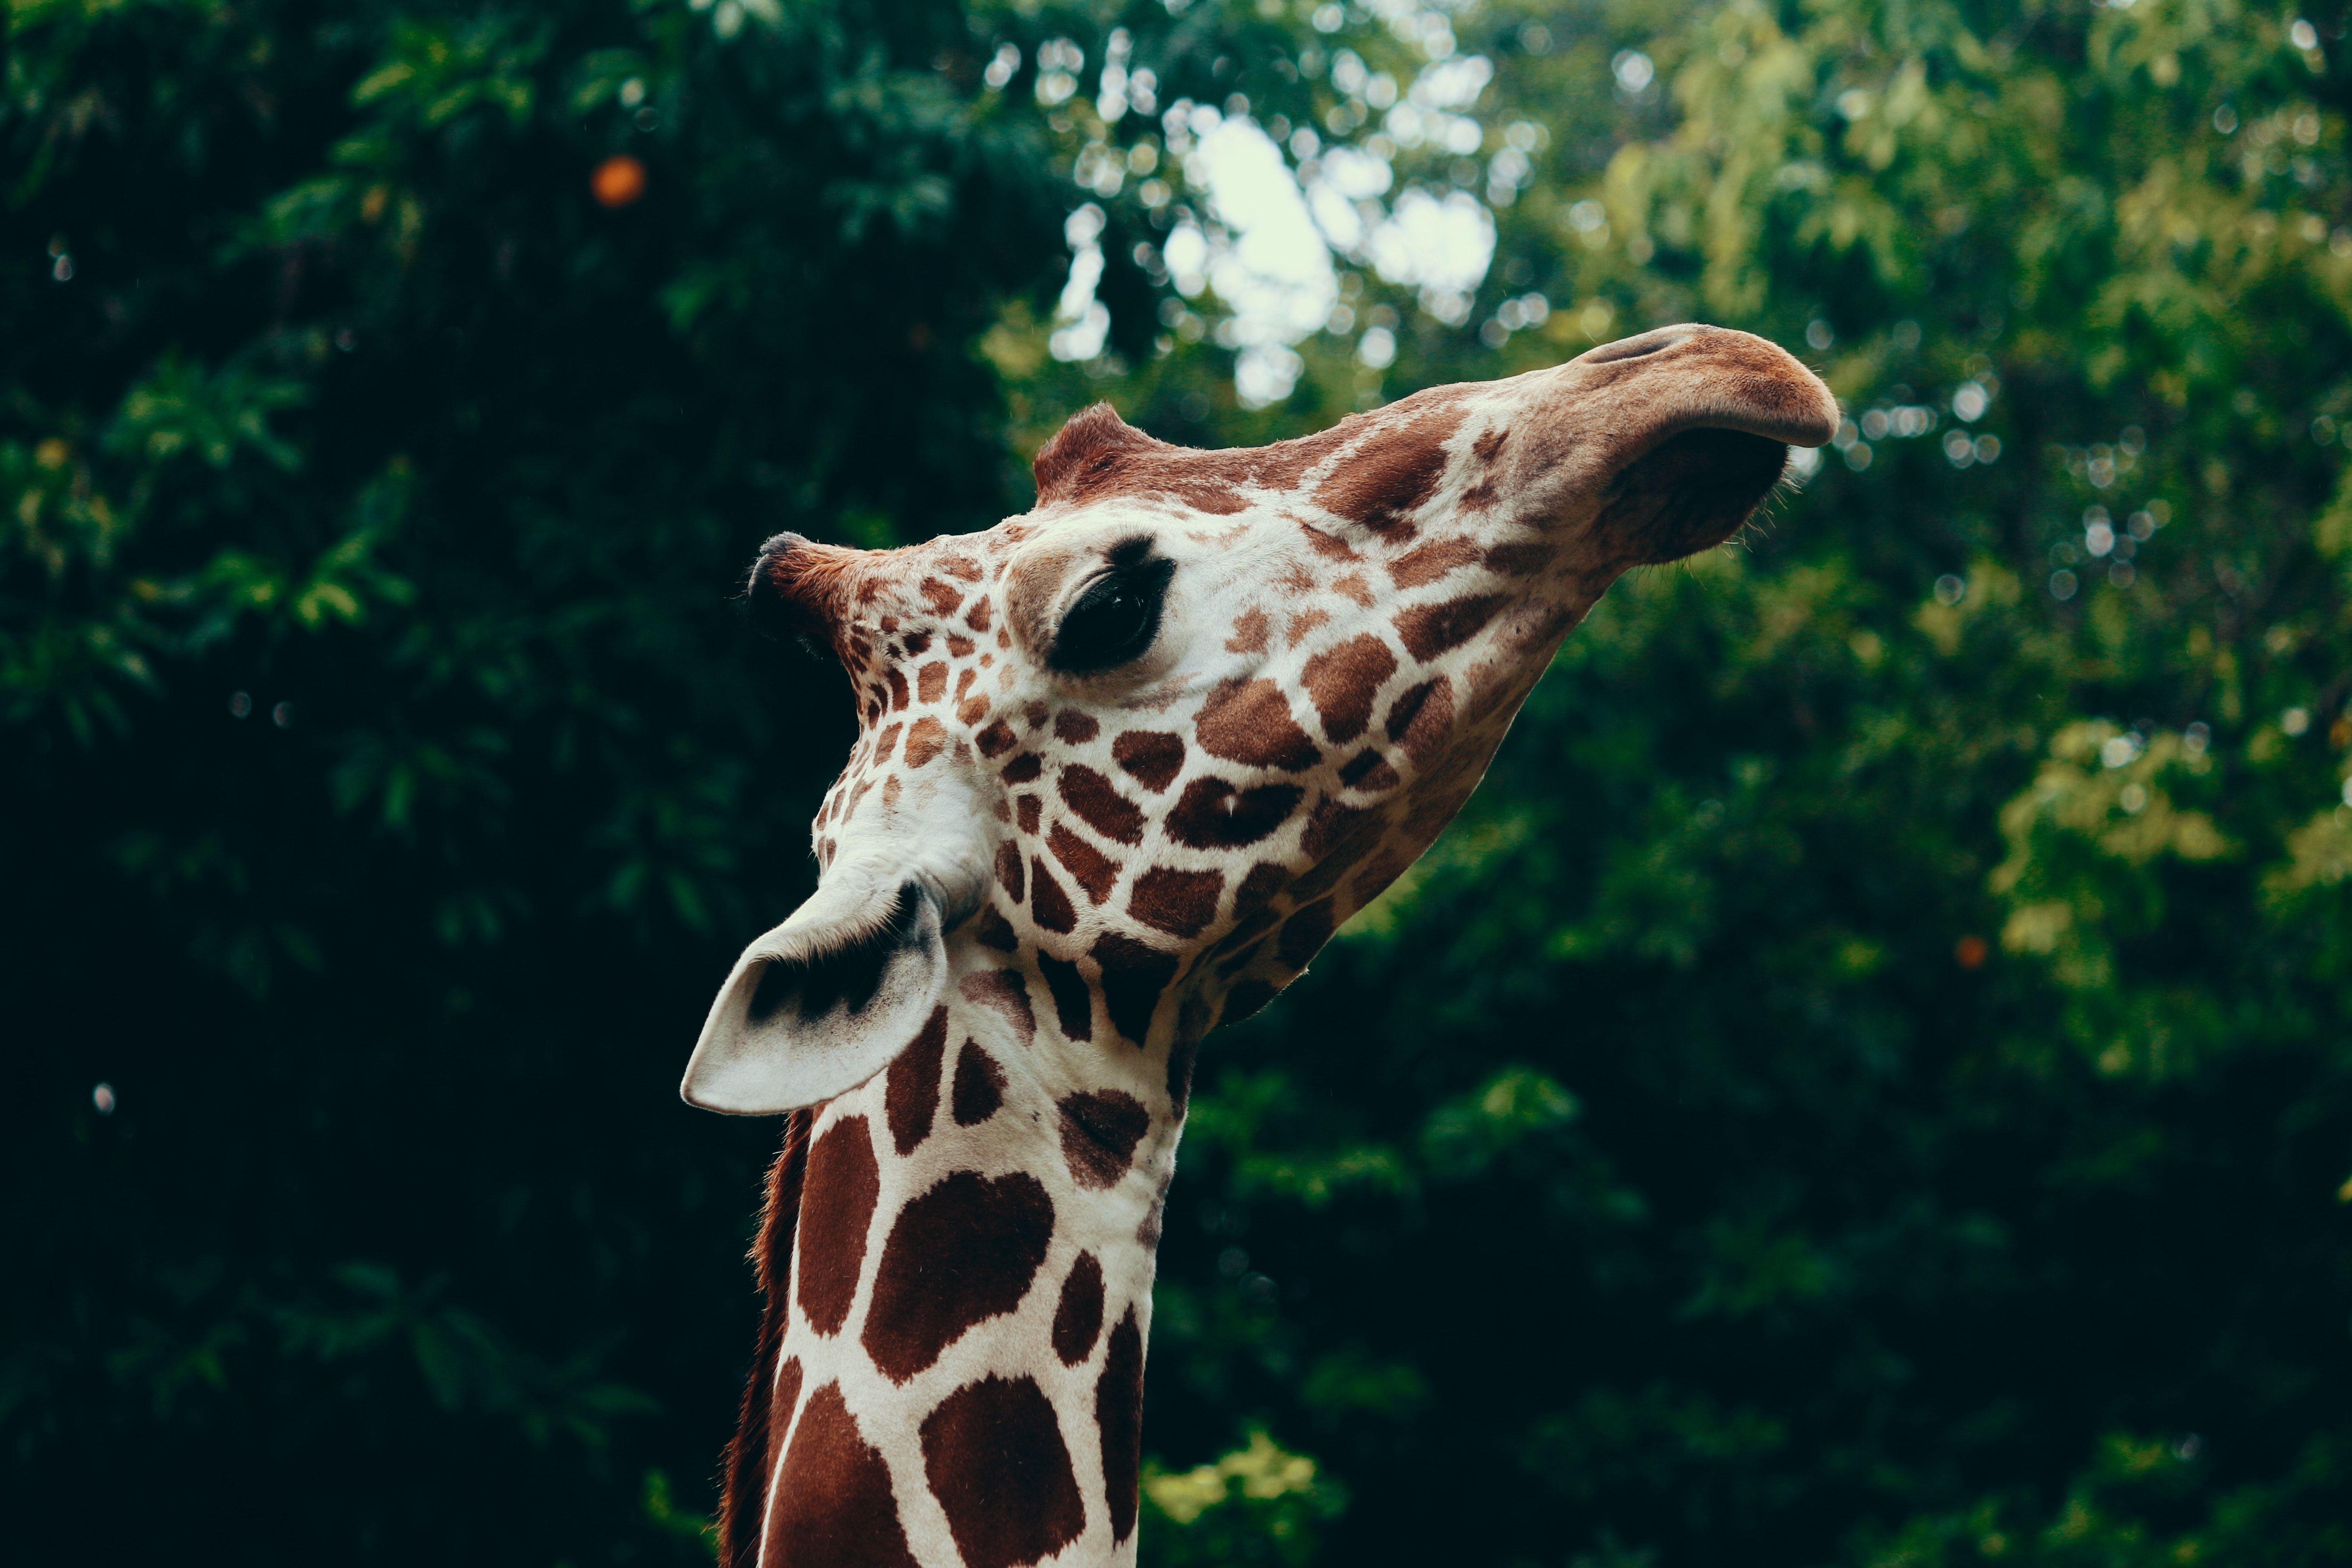
[[[1703,317],[1851,428],[1211,1048],[1145,1559],[2352,1561],[2343,33],[19,2],[12,1544],[701,1561],[673,1086],[849,736],[755,543]]]

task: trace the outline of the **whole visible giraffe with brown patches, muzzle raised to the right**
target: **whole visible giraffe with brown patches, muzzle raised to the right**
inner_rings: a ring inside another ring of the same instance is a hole
[[[1764,339],[1663,327],[1258,449],[1096,404],[995,529],[764,545],[753,611],[861,729],[682,1086],[788,1114],[727,1568],[1134,1561],[1200,1039],[1428,849],[1611,581],[1837,418]]]

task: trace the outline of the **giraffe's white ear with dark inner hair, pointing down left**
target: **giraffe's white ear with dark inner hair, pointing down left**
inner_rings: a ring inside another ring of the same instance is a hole
[[[677,1093],[734,1117],[830,1100],[889,1067],[946,992],[929,891],[818,889],[736,959]]]

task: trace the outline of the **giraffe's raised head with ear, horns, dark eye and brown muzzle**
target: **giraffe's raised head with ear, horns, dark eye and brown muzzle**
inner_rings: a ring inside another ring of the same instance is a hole
[[[1428,849],[1609,583],[1729,538],[1837,418],[1780,348],[1663,327],[1256,449],[1096,404],[985,534],[776,536],[755,609],[835,649],[861,736],[687,1100],[814,1105],[1016,969],[1068,1046],[1167,1053],[1181,1117],[1192,1044]]]

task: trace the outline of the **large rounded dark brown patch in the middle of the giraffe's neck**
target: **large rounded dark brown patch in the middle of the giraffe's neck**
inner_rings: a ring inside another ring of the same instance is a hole
[[[861,1335],[866,1354],[884,1378],[906,1382],[967,1328],[1018,1307],[1051,1239],[1054,1199],[1035,1175],[943,1175],[889,1229]]]

